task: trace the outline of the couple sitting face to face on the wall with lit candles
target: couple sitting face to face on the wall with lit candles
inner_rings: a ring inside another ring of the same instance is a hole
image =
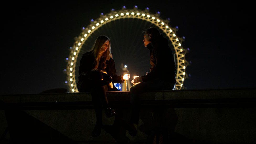
[[[139,95],[149,90],[171,90],[176,83],[176,66],[172,50],[168,46],[168,40],[163,38],[159,31],[148,28],[144,34],[144,46],[150,50],[150,73],[132,80],[134,84],[130,88],[131,118],[128,129],[131,136],[136,136],[135,126],[139,120]],[[93,137],[98,137],[102,129],[102,110],[105,109],[106,117],[115,116],[116,113],[108,104],[107,91],[119,91],[113,87],[113,83],[123,83],[130,75],[116,75],[115,63],[110,51],[110,39],[107,36],[99,36],[93,49],[83,54],[79,66],[79,80],[77,88],[79,92],[91,92],[95,106],[96,125],[92,131]]]

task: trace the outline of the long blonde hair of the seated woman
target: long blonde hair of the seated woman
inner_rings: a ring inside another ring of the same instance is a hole
[[[108,45],[108,49],[104,52],[102,49],[102,46],[105,44],[105,42],[107,42],[109,40],[109,45]],[[106,61],[109,60],[110,58],[113,58],[112,54],[111,54],[111,46],[110,46],[110,39],[105,36],[105,35],[100,35],[96,40],[95,43],[93,45],[92,48],[94,57],[95,57],[95,61],[94,63],[96,63],[95,65],[95,69],[98,69],[99,67],[99,62],[102,58],[105,58],[103,60],[104,66],[103,68],[106,68]]]

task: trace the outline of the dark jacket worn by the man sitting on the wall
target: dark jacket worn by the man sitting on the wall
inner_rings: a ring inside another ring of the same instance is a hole
[[[142,76],[142,81],[159,79],[176,84],[176,65],[168,40],[160,35],[147,45],[150,50],[150,73]]]

